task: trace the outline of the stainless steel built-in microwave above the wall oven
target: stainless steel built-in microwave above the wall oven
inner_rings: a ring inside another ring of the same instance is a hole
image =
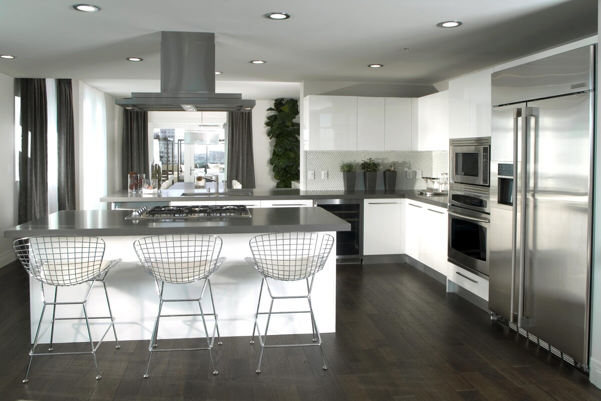
[[[490,136],[450,141],[451,182],[490,186]]]

